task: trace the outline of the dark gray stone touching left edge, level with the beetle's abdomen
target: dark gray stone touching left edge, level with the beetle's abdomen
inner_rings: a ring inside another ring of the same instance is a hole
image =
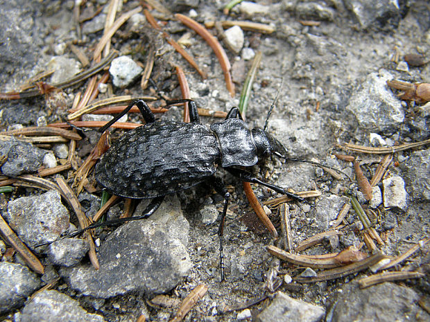
[[[37,171],[42,166],[46,151],[16,138],[0,139],[0,155],[7,156],[1,172],[9,177]]]

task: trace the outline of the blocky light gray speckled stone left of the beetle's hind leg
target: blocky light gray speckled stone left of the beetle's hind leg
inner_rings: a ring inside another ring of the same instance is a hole
[[[53,242],[69,228],[69,211],[57,190],[15,199],[3,215],[28,245]]]

